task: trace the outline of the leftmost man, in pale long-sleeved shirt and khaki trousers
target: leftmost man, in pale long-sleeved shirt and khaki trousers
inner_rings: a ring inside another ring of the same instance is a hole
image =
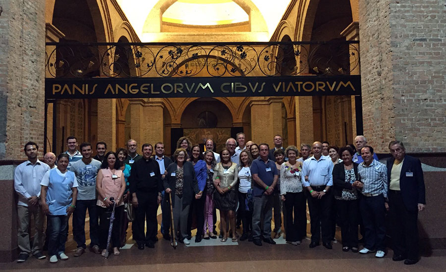
[[[44,222],[45,215],[42,212],[42,207],[39,204],[40,197],[40,182],[50,167],[39,161],[37,158],[39,146],[32,141],[25,144],[25,155],[28,160],[19,164],[14,171],[14,190],[18,194],[17,216],[18,216],[18,231],[17,244],[20,249],[20,254],[17,263],[25,262],[29,254],[32,254],[37,259],[45,259],[46,256],[42,254],[42,247],[44,245]],[[36,232],[34,234],[33,247],[31,248],[29,242],[29,224],[30,215],[34,217],[34,225]]]

